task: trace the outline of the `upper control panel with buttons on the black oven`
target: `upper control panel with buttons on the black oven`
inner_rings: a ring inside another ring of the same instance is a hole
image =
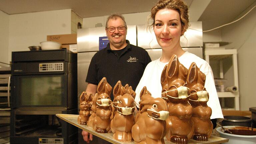
[[[64,63],[39,63],[39,72],[63,71]]]

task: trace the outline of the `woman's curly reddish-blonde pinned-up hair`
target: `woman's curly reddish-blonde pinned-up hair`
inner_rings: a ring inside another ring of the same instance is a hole
[[[189,19],[188,19],[188,6],[184,3],[183,0],[160,0],[156,3],[156,5],[151,9],[151,18],[153,23],[149,25],[150,29],[154,28],[155,25],[155,16],[156,13],[161,9],[174,9],[178,11],[180,14],[180,21],[182,25],[182,33],[187,30],[189,26]]]

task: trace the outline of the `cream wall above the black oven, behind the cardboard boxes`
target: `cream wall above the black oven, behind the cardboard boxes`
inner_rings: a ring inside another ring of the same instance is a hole
[[[71,34],[71,9],[9,15],[9,52],[40,46],[47,35]]]

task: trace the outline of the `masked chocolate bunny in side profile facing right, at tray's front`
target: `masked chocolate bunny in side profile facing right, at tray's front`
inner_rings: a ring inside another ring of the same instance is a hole
[[[146,115],[142,113],[132,127],[132,138],[135,143],[164,144],[165,120],[169,116],[167,102],[162,98],[154,98],[147,102],[140,103],[141,106],[146,107]]]

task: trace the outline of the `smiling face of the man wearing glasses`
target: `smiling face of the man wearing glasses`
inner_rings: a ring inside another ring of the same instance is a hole
[[[107,27],[116,28],[114,32],[109,32],[109,30],[106,29],[106,34],[112,49],[113,48],[119,49],[126,44],[125,39],[126,39],[127,29],[119,32],[117,27],[120,27],[120,26],[121,27],[125,26],[121,18],[118,17],[117,19],[109,19]]]

